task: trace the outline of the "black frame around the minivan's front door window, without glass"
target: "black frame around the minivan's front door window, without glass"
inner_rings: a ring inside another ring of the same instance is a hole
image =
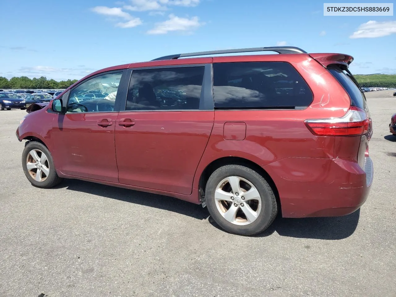
[[[120,84],[118,85],[118,89],[117,89],[117,95],[116,95],[116,100],[114,102],[114,110],[113,111],[87,111],[87,112],[66,112],[66,114],[74,114],[74,113],[78,113],[78,114],[85,114],[85,113],[98,113],[98,112],[119,112],[120,109],[120,101],[122,100],[122,97],[124,95],[124,88],[125,88],[125,78],[126,78],[126,74],[127,74],[127,70],[126,68],[123,69],[116,69],[116,70],[110,70],[110,71],[105,71],[105,72],[100,72],[97,73],[95,75],[89,76],[88,78],[82,80],[81,82],[78,82],[78,84],[76,84],[73,88],[69,89],[67,92],[65,92],[61,97],[65,96],[65,98],[67,98],[67,100],[63,100],[62,98],[62,105],[65,106],[67,108],[68,104],[69,104],[69,99],[70,99],[70,93],[75,89],[78,88],[81,84],[84,84],[84,82],[87,82],[88,80],[91,80],[95,77],[98,76],[102,76],[102,75],[106,75],[106,74],[112,74],[112,73],[122,73],[121,75],[121,79],[120,79]],[[121,92],[120,92],[121,90]],[[58,98],[58,99],[61,99]]]

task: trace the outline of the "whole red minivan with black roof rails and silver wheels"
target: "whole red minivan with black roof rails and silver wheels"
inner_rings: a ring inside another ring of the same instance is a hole
[[[215,56],[251,51],[276,54]],[[234,234],[262,232],[278,211],[347,215],[373,181],[352,60],[272,47],[99,70],[21,121],[23,170],[40,188],[82,179],[202,204]]]

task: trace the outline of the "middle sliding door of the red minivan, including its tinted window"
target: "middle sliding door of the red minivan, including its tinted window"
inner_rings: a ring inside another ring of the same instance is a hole
[[[115,135],[120,183],[191,194],[213,127],[211,65],[133,69],[123,107]]]

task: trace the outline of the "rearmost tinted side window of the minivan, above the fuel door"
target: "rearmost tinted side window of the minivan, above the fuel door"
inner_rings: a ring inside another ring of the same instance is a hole
[[[312,92],[286,62],[213,64],[215,108],[260,109],[307,107]]]

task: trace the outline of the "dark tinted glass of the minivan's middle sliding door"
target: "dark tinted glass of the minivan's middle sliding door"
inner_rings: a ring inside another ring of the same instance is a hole
[[[133,70],[126,110],[199,109],[204,67]]]

